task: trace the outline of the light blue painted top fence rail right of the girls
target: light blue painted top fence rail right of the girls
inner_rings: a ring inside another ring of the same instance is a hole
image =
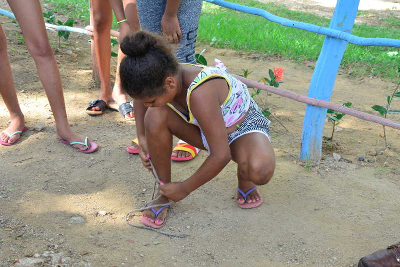
[[[280,17],[277,15],[271,14],[263,9],[256,8],[256,7],[249,7],[249,6],[245,6],[245,5],[241,5],[241,4],[237,4],[237,3],[227,2],[224,0],[204,0],[204,1],[214,3],[217,5],[226,7],[226,8],[233,9],[233,10],[238,10],[238,11],[253,14],[253,15],[259,15],[259,16],[262,16],[262,17],[268,19],[269,21],[279,23],[283,26],[304,29],[304,30],[315,32],[318,34],[324,34],[327,36],[335,37],[335,38],[338,38],[341,40],[345,40],[352,44],[400,47],[400,40],[397,40],[397,39],[359,37],[359,36],[355,36],[355,35],[349,33],[351,31],[345,32],[345,31],[340,31],[337,29],[317,26],[317,25],[314,25],[311,23],[305,23],[305,22],[299,22],[299,21],[295,21],[295,20],[286,19],[284,17]]]

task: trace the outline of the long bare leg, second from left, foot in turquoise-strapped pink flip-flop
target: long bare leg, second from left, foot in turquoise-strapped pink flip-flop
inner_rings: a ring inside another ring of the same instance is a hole
[[[54,115],[58,136],[68,142],[84,142],[84,137],[71,129],[66,117],[61,79],[48,41],[47,32],[44,28],[40,2],[38,0],[7,1],[21,27],[28,51],[35,61],[40,81]],[[73,146],[79,149],[86,149],[81,144],[74,144]]]

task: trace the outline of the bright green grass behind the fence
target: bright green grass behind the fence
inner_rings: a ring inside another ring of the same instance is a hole
[[[279,4],[261,3],[255,0],[230,1],[259,7],[272,14],[296,21],[325,27],[329,25],[327,18],[289,10]],[[87,0],[45,0],[45,2],[49,5],[54,4],[53,11],[88,23]],[[358,12],[358,15],[365,14],[365,11]],[[387,17],[379,22],[381,22],[380,26],[355,24],[352,33],[361,37],[400,39],[400,31],[397,30],[398,18]],[[115,21],[113,27],[117,28]],[[230,10],[208,2],[203,2],[197,36],[198,43],[255,51],[266,56],[279,55],[295,61],[316,60],[323,39],[324,35],[282,26],[260,16]],[[396,69],[400,62],[397,57],[389,56],[387,54],[389,51],[398,51],[398,48],[348,44],[341,65],[355,76],[367,74],[392,79],[397,75]]]

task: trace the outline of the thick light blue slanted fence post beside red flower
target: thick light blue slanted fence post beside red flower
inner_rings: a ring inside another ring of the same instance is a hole
[[[351,32],[359,0],[337,0],[329,28]],[[326,36],[316,61],[308,96],[329,101],[347,42]],[[326,108],[307,105],[303,121],[300,160],[319,160]]]

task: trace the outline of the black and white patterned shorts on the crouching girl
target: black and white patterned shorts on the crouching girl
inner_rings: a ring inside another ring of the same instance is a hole
[[[260,132],[266,135],[268,139],[269,137],[269,123],[270,120],[267,119],[259,109],[257,103],[253,98],[250,98],[250,106],[248,107],[248,111],[246,117],[244,118],[241,125],[232,133],[227,135],[228,143],[231,144],[236,138],[240,137],[243,134],[247,134],[250,132]],[[207,140],[205,139],[203,131],[200,129],[201,139],[203,141],[204,147],[207,149],[208,153],[210,152]]]

